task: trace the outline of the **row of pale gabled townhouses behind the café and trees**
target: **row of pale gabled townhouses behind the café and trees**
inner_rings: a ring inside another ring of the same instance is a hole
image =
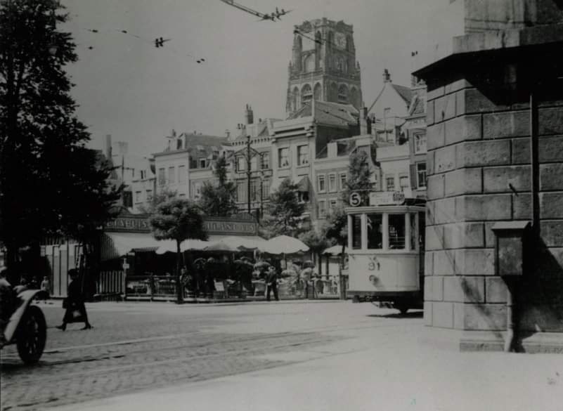
[[[382,90],[362,110],[312,99],[286,119],[254,122],[247,105],[244,122],[232,135],[172,131],[164,150],[147,157],[128,155],[127,145],[108,141],[107,155],[127,186],[127,205],[134,214],[165,190],[197,200],[203,184],[214,181],[216,160],[226,156],[241,210],[250,204],[250,211],[263,211],[269,195],[289,178],[316,225],[342,201],[349,156],[357,150],[369,155],[373,190],[425,197],[425,93],[425,84],[416,79],[410,87],[393,84],[385,70]]]

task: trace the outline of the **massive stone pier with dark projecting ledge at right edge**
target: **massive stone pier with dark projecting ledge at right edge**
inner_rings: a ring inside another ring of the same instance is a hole
[[[517,349],[563,351],[563,6],[460,1],[465,34],[415,71],[428,85],[425,322],[459,330],[462,349],[501,349],[507,282],[491,228],[529,221]]]

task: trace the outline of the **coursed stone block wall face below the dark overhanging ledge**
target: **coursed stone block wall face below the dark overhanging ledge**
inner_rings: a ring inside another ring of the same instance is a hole
[[[496,98],[478,81],[429,83],[425,323],[499,332],[506,328],[507,285],[495,275],[497,221],[531,221],[530,109]],[[563,332],[563,93],[539,103],[538,160],[541,281],[535,268],[520,327]],[[546,292],[545,287],[557,292]],[[539,297],[541,296],[541,297]],[[545,299],[552,308],[548,310]],[[541,301],[540,301],[541,300]],[[558,308],[559,309],[559,308]],[[548,324],[546,325],[546,322]]]

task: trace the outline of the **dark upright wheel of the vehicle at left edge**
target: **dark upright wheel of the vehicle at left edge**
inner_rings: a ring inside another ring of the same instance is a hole
[[[21,319],[16,336],[18,354],[25,364],[39,361],[46,339],[47,323],[43,311],[37,306],[29,306]]]

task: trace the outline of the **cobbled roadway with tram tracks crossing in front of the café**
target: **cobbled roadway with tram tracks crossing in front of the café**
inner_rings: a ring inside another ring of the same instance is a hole
[[[62,332],[54,328],[63,315],[58,304],[41,308],[49,328],[40,363],[22,365],[13,346],[1,353],[2,410],[43,410],[265,370],[307,359],[299,353],[330,355],[323,347],[374,328],[387,337],[404,337],[422,327],[420,313],[401,318],[370,304],[341,301],[100,303],[88,306],[93,330],[79,330],[82,325],[77,324]]]

